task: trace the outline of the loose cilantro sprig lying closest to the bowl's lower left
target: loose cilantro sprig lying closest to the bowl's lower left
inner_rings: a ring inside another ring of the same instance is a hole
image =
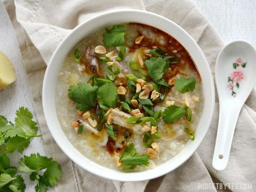
[[[38,154],[31,154],[30,156],[24,156],[20,159],[19,170],[22,172],[31,172],[30,180],[37,180],[35,186],[36,192],[46,192],[48,186],[54,187],[57,184],[57,179],[60,179],[61,167],[58,162],[52,158],[47,158]],[[37,173],[39,170],[46,169],[43,175]]]

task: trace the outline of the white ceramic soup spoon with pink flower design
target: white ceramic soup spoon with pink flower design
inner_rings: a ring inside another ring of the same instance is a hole
[[[215,77],[220,113],[212,166],[224,170],[239,113],[256,83],[256,50],[252,44],[236,40],[226,45],[216,60]]]

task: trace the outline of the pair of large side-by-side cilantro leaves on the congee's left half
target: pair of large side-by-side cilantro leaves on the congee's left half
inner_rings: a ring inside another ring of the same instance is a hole
[[[78,103],[76,108],[80,111],[94,108],[96,98],[102,109],[116,107],[117,88],[112,82],[103,81],[100,87],[92,86],[88,82],[79,82],[78,86],[70,86],[68,91],[69,98]]]

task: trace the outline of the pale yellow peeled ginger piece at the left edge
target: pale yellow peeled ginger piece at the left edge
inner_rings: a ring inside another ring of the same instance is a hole
[[[16,80],[12,62],[0,51],[0,92]]]

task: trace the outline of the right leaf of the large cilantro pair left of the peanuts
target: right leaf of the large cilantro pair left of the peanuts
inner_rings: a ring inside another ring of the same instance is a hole
[[[113,83],[103,84],[97,91],[100,107],[108,110],[110,107],[116,107],[117,88]]]

